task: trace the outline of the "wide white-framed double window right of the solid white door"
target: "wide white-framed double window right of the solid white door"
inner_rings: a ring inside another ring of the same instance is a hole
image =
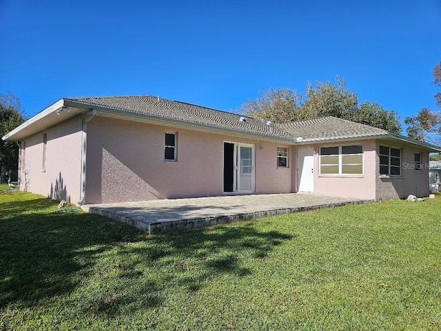
[[[363,174],[363,146],[321,147],[320,174]]]

